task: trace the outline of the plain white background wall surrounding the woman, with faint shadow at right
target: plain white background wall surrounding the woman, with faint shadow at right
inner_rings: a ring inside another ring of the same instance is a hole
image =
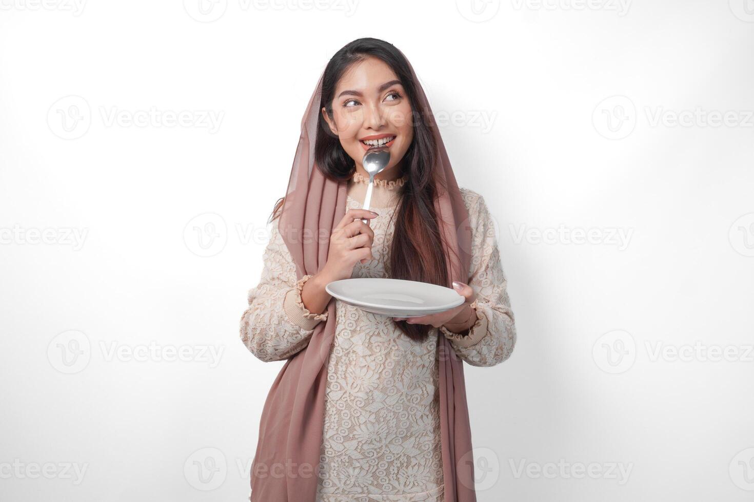
[[[478,500],[751,500],[744,1],[2,0],[0,498],[246,499],[265,224],[327,60],[375,36],[498,222]]]

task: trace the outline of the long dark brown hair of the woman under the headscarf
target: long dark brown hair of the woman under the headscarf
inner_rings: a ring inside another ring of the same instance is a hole
[[[412,78],[409,62],[393,44],[379,38],[358,38],[346,44],[327,63],[319,109],[325,108],[332,119],[333,96],[338,81],[351,65],[369,56],[382,59],[397,75],[411,104],[413,118],[414,137],[400,163],[402,172],[398,174],[406,175],[406,183],[398,189],[400,202],[394,214],[396,221],[388,276],[446,286],[449,281],[446,256],[434,210],[437,180],[432,166],[437,156],[437,142],[428,125],[434,126],[434,121],[427,120],[425,112],[417,108],[418,82]],[[326,178],[339,183],[348,183],[356,169],[354,160],[329,130],[321,113],[314,142],[314,160]],[[270,221],[277,218],[283,202],[284,198],[277,201]],[[429,324],[408,324],[406,321],[397,321],[396,324],[406,336],[416,341],[426,340],[433,328]]]

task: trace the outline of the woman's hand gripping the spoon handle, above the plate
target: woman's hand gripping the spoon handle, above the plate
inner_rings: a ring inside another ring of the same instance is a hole
[[[351,278],[357,261],[366,263],[374,259],[372,242],[375,233],[361,218],[375,218],[374,211],[348,209],[340,223],[330,233],[327,263],[322,272],[330,281]]]

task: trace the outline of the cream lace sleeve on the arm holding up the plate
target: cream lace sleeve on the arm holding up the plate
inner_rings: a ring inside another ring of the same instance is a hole
[[[440,332],[450,340],[458,357],[468,364],[495,366],[510,357],[516,344],[516,326],[492,215],[482,196],[472,190],[462,190],[472,228],[471,245],[474,251],[468,284],[477,294],[476,314],[470,312],[471,319],[476,317],[476,321],[470,328],[458,333],[449,330],[449,326],[441,326]]]

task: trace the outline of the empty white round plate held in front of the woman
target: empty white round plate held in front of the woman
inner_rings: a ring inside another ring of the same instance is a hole
[[[325,290],[366,312],[403,318],[445,312],[466,301],[451,288],[403,279],[342,279],[330,282]]]

